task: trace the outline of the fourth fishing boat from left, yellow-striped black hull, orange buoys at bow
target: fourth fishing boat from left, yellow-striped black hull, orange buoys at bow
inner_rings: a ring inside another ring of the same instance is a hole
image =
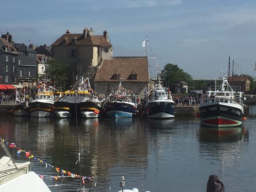
[[[102,111],[101,103],[98,95],[91,88],[89,78],[87,77],[83,84],[83,90],[89,92],[90,96],[87,99],[83,99],[80,102],[80,111],[82,117],[85,118],[97,118]]]

